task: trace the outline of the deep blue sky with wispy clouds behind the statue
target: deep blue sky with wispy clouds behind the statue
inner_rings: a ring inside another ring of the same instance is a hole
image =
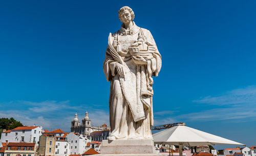
[[[255,1],[1,1],[0,117],[69,131],[88,110],[109,123],[102,63],[122,6],[162,55],[156,125],[256,145]]]

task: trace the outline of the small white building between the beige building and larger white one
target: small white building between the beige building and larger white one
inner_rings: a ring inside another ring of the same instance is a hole
[[[70,143],[65,136],[56,137],[54,155],[69,156],[70,155]]]

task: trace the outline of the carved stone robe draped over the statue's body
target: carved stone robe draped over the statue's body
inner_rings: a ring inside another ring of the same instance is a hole
[[[136,64],[129,52],[132,43],[138,40],[142,32],[147,41],[154,44],[156,51],[147,59],[146,64]],[[158,76],[162,61],[155,40],[150,31],[139,28],[133,23],[131,30],[125,30],[123,25],[119,31],[112,34],[112,40],[117,39],[121,45],[121,56],[125,76],[121,77],[115,69],[117,61],[106,49],[103,71],[110,86],[110,136],[116,139],[152,139],[151,126],[153,120],[153,79]],[[117,49],[116,49],[117,50]]]

